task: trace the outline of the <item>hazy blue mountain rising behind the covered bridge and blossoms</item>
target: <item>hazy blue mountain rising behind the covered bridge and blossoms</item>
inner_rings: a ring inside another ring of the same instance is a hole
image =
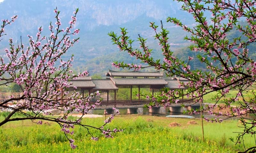
[[[177,17],[186,24],[193,24],[192,17],[180,10],[181,4],[172,0],[4,0],[0,3],[0,18],[6,19],[13,15],[19,17],[15,23],[5,28],[7,36],[1,41],[0,54],[4,54],[11,37],[14,42],[20,42],[21,36],[26,45],[27,35],[35,37],[39,26],[43,26],[42,35],[48,36],[50,21],[55,23],[53,10],[56,7],[60,10],[64,29],[73,11],[79,8],[75,28],[80,29],[80,41],[64,57],[68,59],[71,54],[75,55],[74,68],[91,67],[88,65],[93,60],[107,61],[104,65],[108,66],[105,67],[111,68],[113,60],[120,60],[121,56],[127,57],[118,52],[118,48],[112,45],[107,35],[110,31],[120,33],[119,27],[127,28],[132,39],[136,39],[138,33],[148,38],[148,46],[156,48],[156,54],[161,54],[158,43],[152,37],[154,31],[149,27],[149,22],[159,25],[160,20],[163,20],[164,27],[170,31],[170,43],[174,49],[188,45],[188,42],[183,40],[186,33],[179,27],[166,23],[166,17]],[[138,46],[138,43],[135,43],[136,45]],[[122,55],[119,56],[120,54]],[[93,73],[99,72],[101,70]]]

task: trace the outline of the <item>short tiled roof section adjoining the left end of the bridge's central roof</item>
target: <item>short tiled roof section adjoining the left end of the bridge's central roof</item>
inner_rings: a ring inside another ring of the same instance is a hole
[[[93,90],[117,90],[118,89],[118,87],[116,87],[115,84],[109,79],[92,80],[92,82],[95,84],[95,87],[93,88]]]

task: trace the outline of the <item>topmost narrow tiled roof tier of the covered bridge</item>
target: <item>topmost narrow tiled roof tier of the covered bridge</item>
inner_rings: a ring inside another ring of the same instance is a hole
[[[113,70],[108,70],[106,76],[111,77],[162,77],[163,73],[159,71],[156,72],[140,72],[140,71],[129,71],[129,72],[118,72]]]

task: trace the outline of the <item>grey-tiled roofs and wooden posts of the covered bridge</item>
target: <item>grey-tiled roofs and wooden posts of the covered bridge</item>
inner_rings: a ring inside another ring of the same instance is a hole
[[[116,101],[116,92],[119,88],[130,88],[130,102],[132,102],[132,88],[149,88],[154,94],[154,90],[160,90],[164,87],[170,89],[186,89],[182,82],[187,82],[181,78],[174,77],[173,79],[164,79],[163,73],[156,72],[140,72],[140,71],[128,71],[119,72],[108,70],[106,73],[106,79],[92,79],[91,77],[79,77],[76,80],[71,80],[72,85],[70,88],[76,87],[81,90],[83,97],[84,92],[89,94],[95,91],[101,93],[107,93],[107,101],[109,101],[109,93],[114,92],[114,101]],[[140,94],[138,96],[140,101]]]

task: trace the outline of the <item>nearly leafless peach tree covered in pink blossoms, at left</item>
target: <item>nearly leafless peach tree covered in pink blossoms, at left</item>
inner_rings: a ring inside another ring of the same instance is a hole
[[[18,45],[9,39],[10,48],[6,48],[6,54],[0,56],[0,85],[9,86],[11,83],[20,86],[22,91],[19,97],[11,95],[0,101],[0,110],[10,111],[4,120],[0,121],[0,126],[7,122],[31,120],[37,124],[44,121],[56,122],[60,125],[70,146],[76,148],[72,135],[75,125],[79,125],[88,130],[93,140],[98,137],[90,133],[90,129],[98,129],[105,137],[112,137],[113,132],[119,130],[105,129],[104,126],[111,122],[115,114],[106,118],[101,127],[93,127],[81,122],[82,117],[90,109],[94,109],[100,104],[101,100],[91,102],[99,92],[92,93],[83,97],[75,90],[70,90],[69,80],[87,76],[88,71],[73,74],[71,70],[73,55],[67,61],[61,57],[68,52],[68,49],[75,45],[79,38],[73,38],[79,33],[79,29],[74,29],[76,24],[76,14],[74,11],[71,20],[66,28],[62,28],[60,11],[54,9],[56,22],[49,25],[49,37],[41,36],[43,27],[38,28],[35,37],[28,35],[28,46],[23,44],[20,39]],[[11,20],[2,20],[0,37],[5,34],[5,26],[12,24],[18,16],[11,17]],[[2,40],[2,39],[1,39]],[[115,109],[115,108],[113,108]],[[54,114],[52,110],[64,112],[61,115]],[[78,119],[69,119],[68,116],[73,112],[79,112],[82,116]],[[19,115],[16,115],[19,114]]]

